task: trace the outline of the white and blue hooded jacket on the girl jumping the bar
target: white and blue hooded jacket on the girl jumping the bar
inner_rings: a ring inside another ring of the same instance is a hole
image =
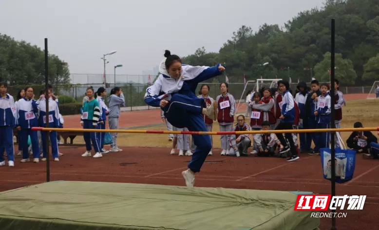
[[[171,95],[176,93],[189,96],[190,98],[198,98],[194,93],[198,83],[222,74],[218,70],[220,63],[217,63],[213,67],[183,64],[181,77],[175,79],[167,72],[165,60],[163,59],[159,65],[160,75],[154,84],[146,89],[144,100],[146,104],[152,107],[159,107],[162,98],[170,101]]]

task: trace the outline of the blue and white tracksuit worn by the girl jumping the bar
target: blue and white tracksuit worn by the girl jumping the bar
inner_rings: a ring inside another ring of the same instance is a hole
[[[159,107],[162,99],[169,104],[162,108],[167,120],[176,128],[188,128],[193,132],[207,132],[202,115],[206,108],[205,100],[195,94],[199,82],[222,74],[216,66],[190,66],[182,65],[182,76],[175,79],[169,75],[165,67],[164,59],[159,66],[159,77],[154,84],[147,88],[145,103],[152,107]],[[200,172],[209,151],[212,148],[209,135],[192,135],[196,150],[188,168],[194,172]]]

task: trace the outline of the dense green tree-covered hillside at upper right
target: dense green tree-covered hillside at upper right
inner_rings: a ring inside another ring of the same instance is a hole
[[[225,63],[229,82],[283,78],[329,81],[331,19],[336,19],[335,75],[344,85],[379,80],[379,0],[326,0],[321,9],[300,12],[283,28],[243,25],[218,53],[204,47],[183,58],[190,65]],[[267,65],[263,65],[268,62]],[[225,76],[214,79],[225,81]]]

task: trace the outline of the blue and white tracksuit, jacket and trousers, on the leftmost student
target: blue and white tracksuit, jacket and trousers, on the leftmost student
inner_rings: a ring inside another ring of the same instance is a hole
[[[13,96],[6,94],[0,97],[0,149],[5,150],[8,161],[15,161],[13,146],[13,128],[16,127],[15,102]],[[4,161],[4,154],[0,153],[0,162]]]

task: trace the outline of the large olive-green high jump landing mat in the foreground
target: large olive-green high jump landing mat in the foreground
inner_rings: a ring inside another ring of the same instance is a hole
[[[1,230],[318,230],[297,194],[57,181],[0,192]]]

